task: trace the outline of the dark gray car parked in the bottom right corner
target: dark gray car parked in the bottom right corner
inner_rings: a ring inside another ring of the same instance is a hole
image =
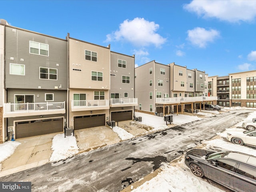
[[[198,177],[207,177],[235,192],[256,191],[256,157],[235,151],[193,149],[185,164]]]

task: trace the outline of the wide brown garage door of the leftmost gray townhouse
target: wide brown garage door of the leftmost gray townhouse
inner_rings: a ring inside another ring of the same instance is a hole
[[[24,138],[63,131],[63,118],[16,122],[15,138]]]

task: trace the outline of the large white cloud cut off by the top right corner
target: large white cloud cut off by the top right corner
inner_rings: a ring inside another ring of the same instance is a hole
[[[193,0],[183,8],[203,18],[218,18],[228,22],[251,22],[256,16],[255,0]]]

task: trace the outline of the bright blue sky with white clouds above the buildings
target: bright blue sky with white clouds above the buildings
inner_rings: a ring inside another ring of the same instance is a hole
[[[256,0],[1,0],[0,18],[209,76],[256,69]],[[5,7],[5,8],[4,8]]]

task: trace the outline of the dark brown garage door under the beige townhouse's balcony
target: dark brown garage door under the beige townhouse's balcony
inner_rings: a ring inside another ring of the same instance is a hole
[[[74,130],[105,125],[105,114],[74,117]]]

